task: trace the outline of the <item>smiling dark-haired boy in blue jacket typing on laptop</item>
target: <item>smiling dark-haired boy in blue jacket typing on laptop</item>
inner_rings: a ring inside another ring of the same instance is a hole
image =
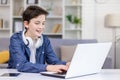
[[[23,12],[24,30],[10,38],[8,68],[32,73],[67,71],[70,63],[57,58],[50,40],[42,34],[47,15],[48,12],[39,6],[28,6]]]

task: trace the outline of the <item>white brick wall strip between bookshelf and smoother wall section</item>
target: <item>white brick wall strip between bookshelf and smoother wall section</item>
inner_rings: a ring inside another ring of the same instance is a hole
[[[95,38],[95,1],[82,0],[82,39]]]

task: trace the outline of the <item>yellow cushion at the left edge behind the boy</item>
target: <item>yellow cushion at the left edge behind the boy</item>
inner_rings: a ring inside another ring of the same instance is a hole
[[[0,51],[0,64],[6,63],[9,60],[9,51],[3,50]]]

